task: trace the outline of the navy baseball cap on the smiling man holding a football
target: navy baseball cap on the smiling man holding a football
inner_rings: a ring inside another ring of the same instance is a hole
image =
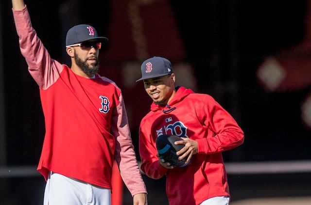
[[[140,69],[141,69],[141,78],[136,80],[136,82],[143,79],[152,79],[173,73],[171,62],[166,58],[157,56],[144,61],[141,64]]]

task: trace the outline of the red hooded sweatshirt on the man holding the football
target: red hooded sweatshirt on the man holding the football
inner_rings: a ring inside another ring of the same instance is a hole
[[[170,205],[199,205],[208,198],[230,196],[221,152],[244,141],[242,129],[211,96],[179,87],[169,107],[151,105],[139,130],[141,170],[159,179],[166,174]],[[156,157],[156,137],[172,134],[196,140],[198,153],[186,167],[166,169]]]

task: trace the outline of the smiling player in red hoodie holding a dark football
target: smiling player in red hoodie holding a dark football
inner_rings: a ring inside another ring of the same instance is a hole
[[[139,127],[141,170],[153,179],[166,175],[170,205],[229,205],[230,194],[222,152],[241,145],[242,129],[211,96],[175,88],[171,62],[153,57],[141,64],[144,88],[153,99]],[[155,140],[167,134],[182,137],[177,155],[185,167],[159,158]]]

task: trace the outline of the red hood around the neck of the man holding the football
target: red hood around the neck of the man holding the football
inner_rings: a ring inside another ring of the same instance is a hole
[[[194,93],[191,89],[186,89],[184,87],[178,86],[175,88],[176,93],[173,96],[172,100],[166,105],[158,105],[153,102],[151,104],[150,110],[152,111],[157,111],[157,110],[162,110],[164,113],[170,113],[171,111],[175,110],[175,105],[182,101],[185,97],[190,95],[191,93]]]

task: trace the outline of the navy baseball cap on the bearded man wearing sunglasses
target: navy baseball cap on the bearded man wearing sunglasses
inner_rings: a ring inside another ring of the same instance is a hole
[[[87,24],[80,24],[68,30],[66,35],[66,46],[78,44],[84,41],[96,39],[102,43],[106,43],[108,38],[97,35],[94,27]]]

